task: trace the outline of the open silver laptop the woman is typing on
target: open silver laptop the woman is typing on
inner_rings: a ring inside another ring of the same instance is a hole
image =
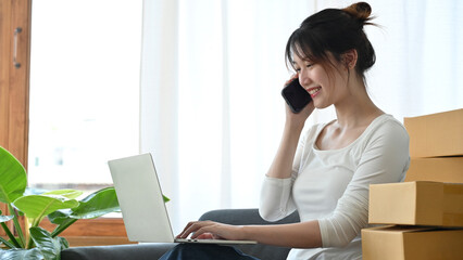
[[[129,240],[256,244],[254,240],[175,238],[151,154],[114,159],[108,165]]]

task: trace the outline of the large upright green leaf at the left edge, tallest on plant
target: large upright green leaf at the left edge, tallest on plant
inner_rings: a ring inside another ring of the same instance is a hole
[[[23,196],[26,185],[24,167],[10,152],[0,146],[0,202],[13,203]]]

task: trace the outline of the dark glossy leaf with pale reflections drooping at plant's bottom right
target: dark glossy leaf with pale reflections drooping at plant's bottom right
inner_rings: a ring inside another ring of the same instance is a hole
[[[30,227],[30,237],[40,250],[45,260],[59,260],[61,250],[64,249],[61,237],[51,237],[50,233],[41,227]]]

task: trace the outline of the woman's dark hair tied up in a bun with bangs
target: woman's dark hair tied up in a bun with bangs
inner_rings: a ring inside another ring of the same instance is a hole
[[[293,67],[293,55],[323,66],[329,63],[328,53],[336,61],[341,54],[355,49],[355,70],[364,79],[364,73],[375,64],[375,51],[363,31],[370,23],[372,8],[359,2],[345,9],[325,9],[305,18],[292,32],[286,46],[287,65]],[[331,64],[333,65],[333,64]]]

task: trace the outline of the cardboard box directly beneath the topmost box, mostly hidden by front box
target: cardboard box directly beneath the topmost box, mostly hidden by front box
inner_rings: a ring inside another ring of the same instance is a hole
[[[412,158],[405,182],[463,183],[463,157]]]

